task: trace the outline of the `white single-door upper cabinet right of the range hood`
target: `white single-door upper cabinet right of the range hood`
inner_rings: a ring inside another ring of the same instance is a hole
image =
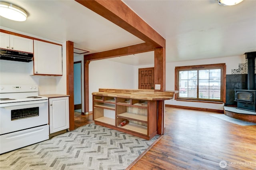
[[[62,46],[34,40],[34,75],[62,75]]]

